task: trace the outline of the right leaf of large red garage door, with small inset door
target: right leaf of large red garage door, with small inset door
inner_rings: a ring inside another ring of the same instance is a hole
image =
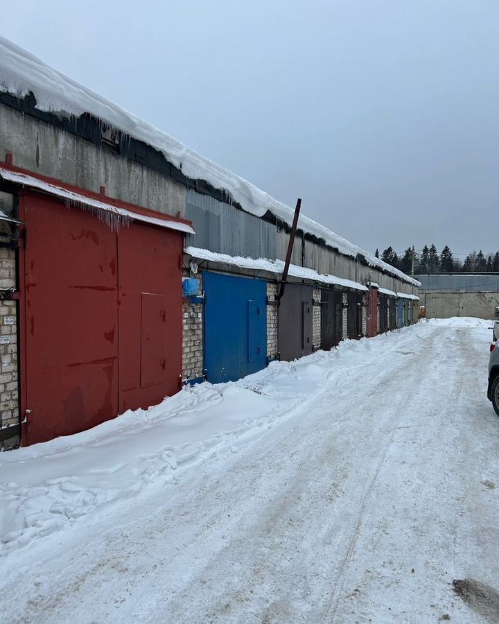
[[[120,413],[179,389],[182,242],[177,232],[143,225],[119,231]]]

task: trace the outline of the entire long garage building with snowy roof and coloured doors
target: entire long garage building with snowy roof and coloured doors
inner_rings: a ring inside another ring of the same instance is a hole
[[[414,320],[418,281],[306,217],[288,254],[292,211],[0,47],[0,447]]]

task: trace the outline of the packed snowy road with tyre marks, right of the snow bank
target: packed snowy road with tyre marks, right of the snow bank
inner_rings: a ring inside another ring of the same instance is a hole
[[[237,453],[10,551],[0,621],[499,622],[487,327],[421,323],[320,360],[320,389]],[[474,607],[464,578],[484,584]]]

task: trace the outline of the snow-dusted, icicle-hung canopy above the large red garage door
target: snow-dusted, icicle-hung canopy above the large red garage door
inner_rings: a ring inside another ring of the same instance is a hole
[[[142,223],[149,223],[150,225],[157,225],[159,227],[165,227],[166,229],[175,229],[178,232],[184,232],[186,234],[195,234],[193,228],[188,223],[183,221],[177,221],[167,216],[165,218],[153,217],[146,214],[141,214],[127,208],[116,206],[105,200],[98,200],[96,198],[88,197],[77,193],[71,189],[68,189],[62,185],[54,184],[53,182],[46,182],[39,177],[24,173],[23,171],[15,171],[5,166],[0,166],[0,177],[6,182],[12,182],[13,184],[22,184],[24,187],[30,189],[36,189],[50,195],[57,196],[64,202],[69,203],[77,207],[85,207],[92,209],[102,216],[109,216],[111,219],[123,220],[127,222],[130,220],[141,221]],[[1,218],[1,217],[0,217]]]

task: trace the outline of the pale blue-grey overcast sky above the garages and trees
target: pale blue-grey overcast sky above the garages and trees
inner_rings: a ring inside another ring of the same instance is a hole
[[[499,0],[16,0],[0,33],[371,252],[499,248]]]

